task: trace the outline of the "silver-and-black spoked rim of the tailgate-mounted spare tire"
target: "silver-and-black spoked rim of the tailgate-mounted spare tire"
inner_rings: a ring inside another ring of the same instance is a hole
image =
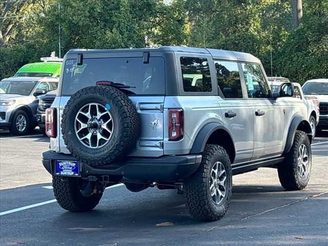
[[[91,149],[105,146],[114,131],[111,113],[105,106],[97,103],[83,106],[76,114],[74,126],[78,140]]]

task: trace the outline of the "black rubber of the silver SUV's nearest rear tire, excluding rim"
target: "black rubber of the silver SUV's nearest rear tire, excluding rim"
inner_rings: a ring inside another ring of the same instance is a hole
[[[222,162],[227,173],[226,195],[217,205],[210,195],[210,176],[215,162]],[[215,221],[226,214],[232,195],[232,169],[226,150],[217,145],[206,145],[199,168],[183,182],[189,214],[203,221]]]

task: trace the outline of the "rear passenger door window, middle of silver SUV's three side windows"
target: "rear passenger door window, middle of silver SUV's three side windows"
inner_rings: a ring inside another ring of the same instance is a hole
[[[214,61],[217,84],[226,98],[242,98],[238,64],[232,61]]]

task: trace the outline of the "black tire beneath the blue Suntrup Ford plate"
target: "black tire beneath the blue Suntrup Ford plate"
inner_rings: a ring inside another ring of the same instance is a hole
[[[78,187],[77,177],[52,177],[52,187],[59,206],[71,212],[87,212],[94,209],[99,203],[100,194],[83,196]]]

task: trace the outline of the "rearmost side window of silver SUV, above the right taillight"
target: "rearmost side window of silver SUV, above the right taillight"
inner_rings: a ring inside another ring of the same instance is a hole
[[[212,80],[208,60],[198,57],[180,57],[183,91],[211,92]]]

